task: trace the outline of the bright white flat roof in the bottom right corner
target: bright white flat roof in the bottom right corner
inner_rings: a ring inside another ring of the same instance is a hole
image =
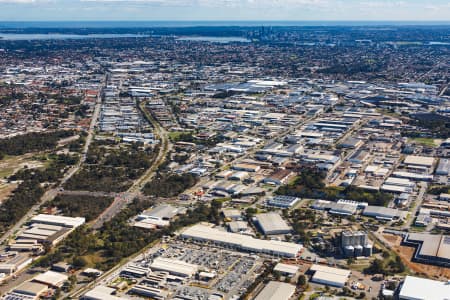
[[[407,300],[450,299],[450,284],[431,279],[406,276],[400,298]]]

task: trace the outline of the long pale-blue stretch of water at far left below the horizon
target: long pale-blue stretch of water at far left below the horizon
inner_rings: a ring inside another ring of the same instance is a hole
[[[84,39],[111,39],[111,38],[139,38],[149,37],[140,34],[20,34],[0,33],[0,41],[30,41],[30,40],[84,40]]]

